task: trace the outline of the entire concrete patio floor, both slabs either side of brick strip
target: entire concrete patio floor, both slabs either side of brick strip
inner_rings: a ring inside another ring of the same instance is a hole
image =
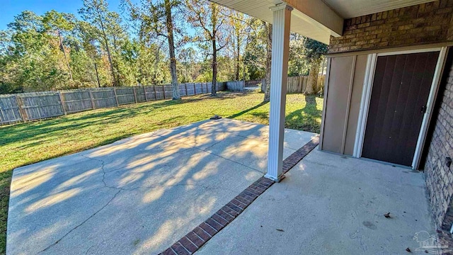
[[[262,179],[267,137],[265,125],[207,120],[16,169],[7,254],[173,252]],[[316,137],[285,130],[284,157]],[[314,149],[286,175],[198,252],[394,254],[434,229],[416,171]]]

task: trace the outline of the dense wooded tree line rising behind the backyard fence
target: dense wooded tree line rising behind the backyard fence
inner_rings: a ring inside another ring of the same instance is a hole
[[[194,22],[194,3],[171,1],[179,82],[212,80],[210,37]],[[196,4],[209,8],[210,3]],[[124,0],[122,13],[110,11],[107,0],[80,5],[81,18],[53,10],[42,16],[23,11],[0,30],[0,94],[171,82],[162,1],[134,5]],[[262,79],[265,23],[218,9],[217,80]],[[200,22],[208,24],[209,18]],[[289,75],[308,74],[311,59],[325,52],[326,45],[292,34]]]

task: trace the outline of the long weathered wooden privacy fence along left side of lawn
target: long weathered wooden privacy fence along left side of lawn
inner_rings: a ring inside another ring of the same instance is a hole
[[[217,91],[226,82],[217,82]],[[212,83],[178,84],[180,96],[212,92]],[[70,113],[142,103],[173,96],[171,84],[46,91],[0,96],[0,125],[40,120]]]

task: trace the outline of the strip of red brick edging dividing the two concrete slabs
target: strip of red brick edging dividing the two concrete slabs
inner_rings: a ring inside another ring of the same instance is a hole
[[[299,163],[312,149],[319,144],[319,136],[311,138],[303,147],[291,154],[283,161],[283,174]],[[207,243],[215,234],[229,225],[248,205],[264,193],[275,181],[261,177],[248,186],[238,196],[224,205],[220,210],[207,218],[191,232],[175,242],[170,248],[161,252],[161,255],[186,255],[193,254]],[[159,254],[159,255],[160,255]]]

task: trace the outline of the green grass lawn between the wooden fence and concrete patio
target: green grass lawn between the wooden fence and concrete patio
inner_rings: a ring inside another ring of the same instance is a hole
[[[0,253],[5,252],[9,186],[16,167],[144,132],[194,123],[214,114],[268,124],[269,103],[262,101],[263,94],[220,92],[214,98],[202,95],[140,103],[0,128]],[[319,132],[322,104],[323,99],[315,96],[287,95],[285,127]]]

